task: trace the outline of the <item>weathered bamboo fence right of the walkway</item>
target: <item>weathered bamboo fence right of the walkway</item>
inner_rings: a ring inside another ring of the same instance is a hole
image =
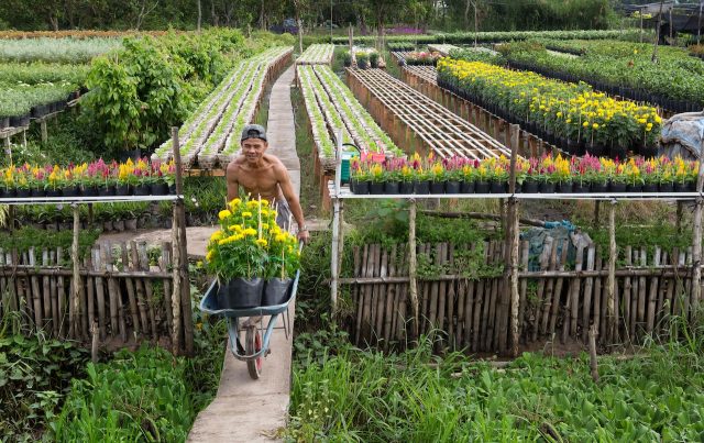
[[[543,340],[588,341],[593,326],[603,345],[640,343],[649,333],[668,331],[668,319],[689,319],[702,301],[693,291],[692,250],[664,251],[626,246],[615,269],[614,336],[609,340],[608,265],[591,242],[576,242],[568,263],[568,240],[548,237],[538,263],[528,272],[528,242],[518,248],[517,308],[519,343],[510,331],[510,290],[504,279],[506,242],[454,245],[418,244],[418,325],[414,331],[408,244],[355,246],[351,278],[341,278],[352,304],[351,336],[358,345],[387,348],[417,334],[441,331],[441,346],[468,352],[508,353],[512,346]],[[477,250],[479,248],[479,250]],[[462,264],[481,253],[484,275],[470,275]],[[424,259],[425,257],[425,259]],[[443,270],[452,269],[452,274]],[[468,273],[463,275],[463,273]],[[700,292],[701,294],[701,292]]]

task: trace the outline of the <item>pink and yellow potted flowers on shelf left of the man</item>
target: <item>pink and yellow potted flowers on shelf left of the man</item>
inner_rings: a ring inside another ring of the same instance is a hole
[[[175,192],[173,162],[146,158],[106,163],[102,158],[81,165],[36,166],[24,164],[0,168],[0,197],[150,196]]]

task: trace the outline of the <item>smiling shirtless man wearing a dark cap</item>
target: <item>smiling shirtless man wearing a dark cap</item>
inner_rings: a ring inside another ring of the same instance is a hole
[[[298,240],[307,243],[310,239],[304,220],[304,210],[288,176],[286,166],[273,155],[265,154],[268,147],[266,131],[258,124],[244,126],[241,137],[242,154],[230,162],[226,171],[228,201],[240,196],[240,186],[254,198],[276,202],[276,223],[282,228],[293,214],[298,224]]]

